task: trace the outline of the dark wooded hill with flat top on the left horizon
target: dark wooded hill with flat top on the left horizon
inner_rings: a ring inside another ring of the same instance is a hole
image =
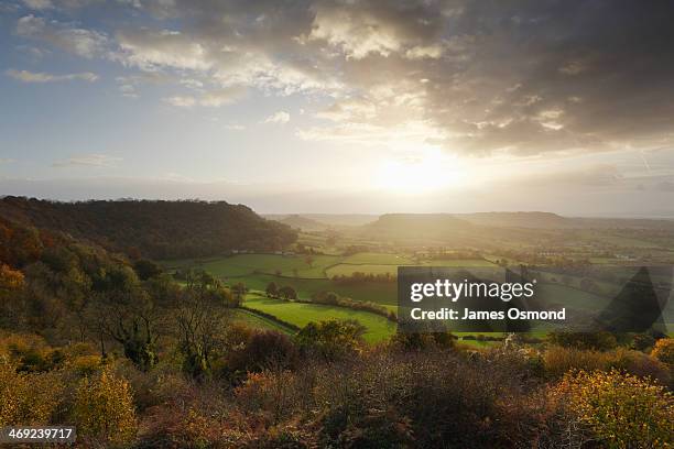
[[[59,231],[101,247],[154,259],[199,258],[231,250],[274,251],[296,231],[225,201],[113,200],[58,202],[0,199],[0,217]]]

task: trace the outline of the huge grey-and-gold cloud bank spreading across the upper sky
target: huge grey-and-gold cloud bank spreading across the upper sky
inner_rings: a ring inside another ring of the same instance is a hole
[[[26,3],[45,14],[56,4]],[[389,132],[414,135],[411,145],[511,157],[674,145],[671,2],[146,0],[116,8],[109,31],[30,14],[17,34],[173,77],[165,101],[177,107],[236,101],[227,89],[302,95],[317,119],[297,130],[303,139],[371,144]],[[116,22],[124,14],[137,22]],[[139,84],[119,89],[139,95]]]

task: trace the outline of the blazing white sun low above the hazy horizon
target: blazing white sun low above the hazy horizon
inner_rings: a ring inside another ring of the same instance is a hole
[[[457,158],[431,153],[383,162],[374,182],[383,190],[418,195],[460,186],[464,178]]]

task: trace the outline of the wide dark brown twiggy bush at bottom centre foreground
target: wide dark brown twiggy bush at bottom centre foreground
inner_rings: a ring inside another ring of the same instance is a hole
[[[322,447],[525,447],[537,418],[501,368],[446,351],[380,349],[319,370]]]

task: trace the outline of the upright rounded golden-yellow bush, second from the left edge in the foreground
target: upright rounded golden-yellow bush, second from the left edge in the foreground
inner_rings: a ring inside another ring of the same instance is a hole
[[[77,431],[97,440],[123,443],[137,431],[129,383],[109,370],[80,381],[75,394]]]

